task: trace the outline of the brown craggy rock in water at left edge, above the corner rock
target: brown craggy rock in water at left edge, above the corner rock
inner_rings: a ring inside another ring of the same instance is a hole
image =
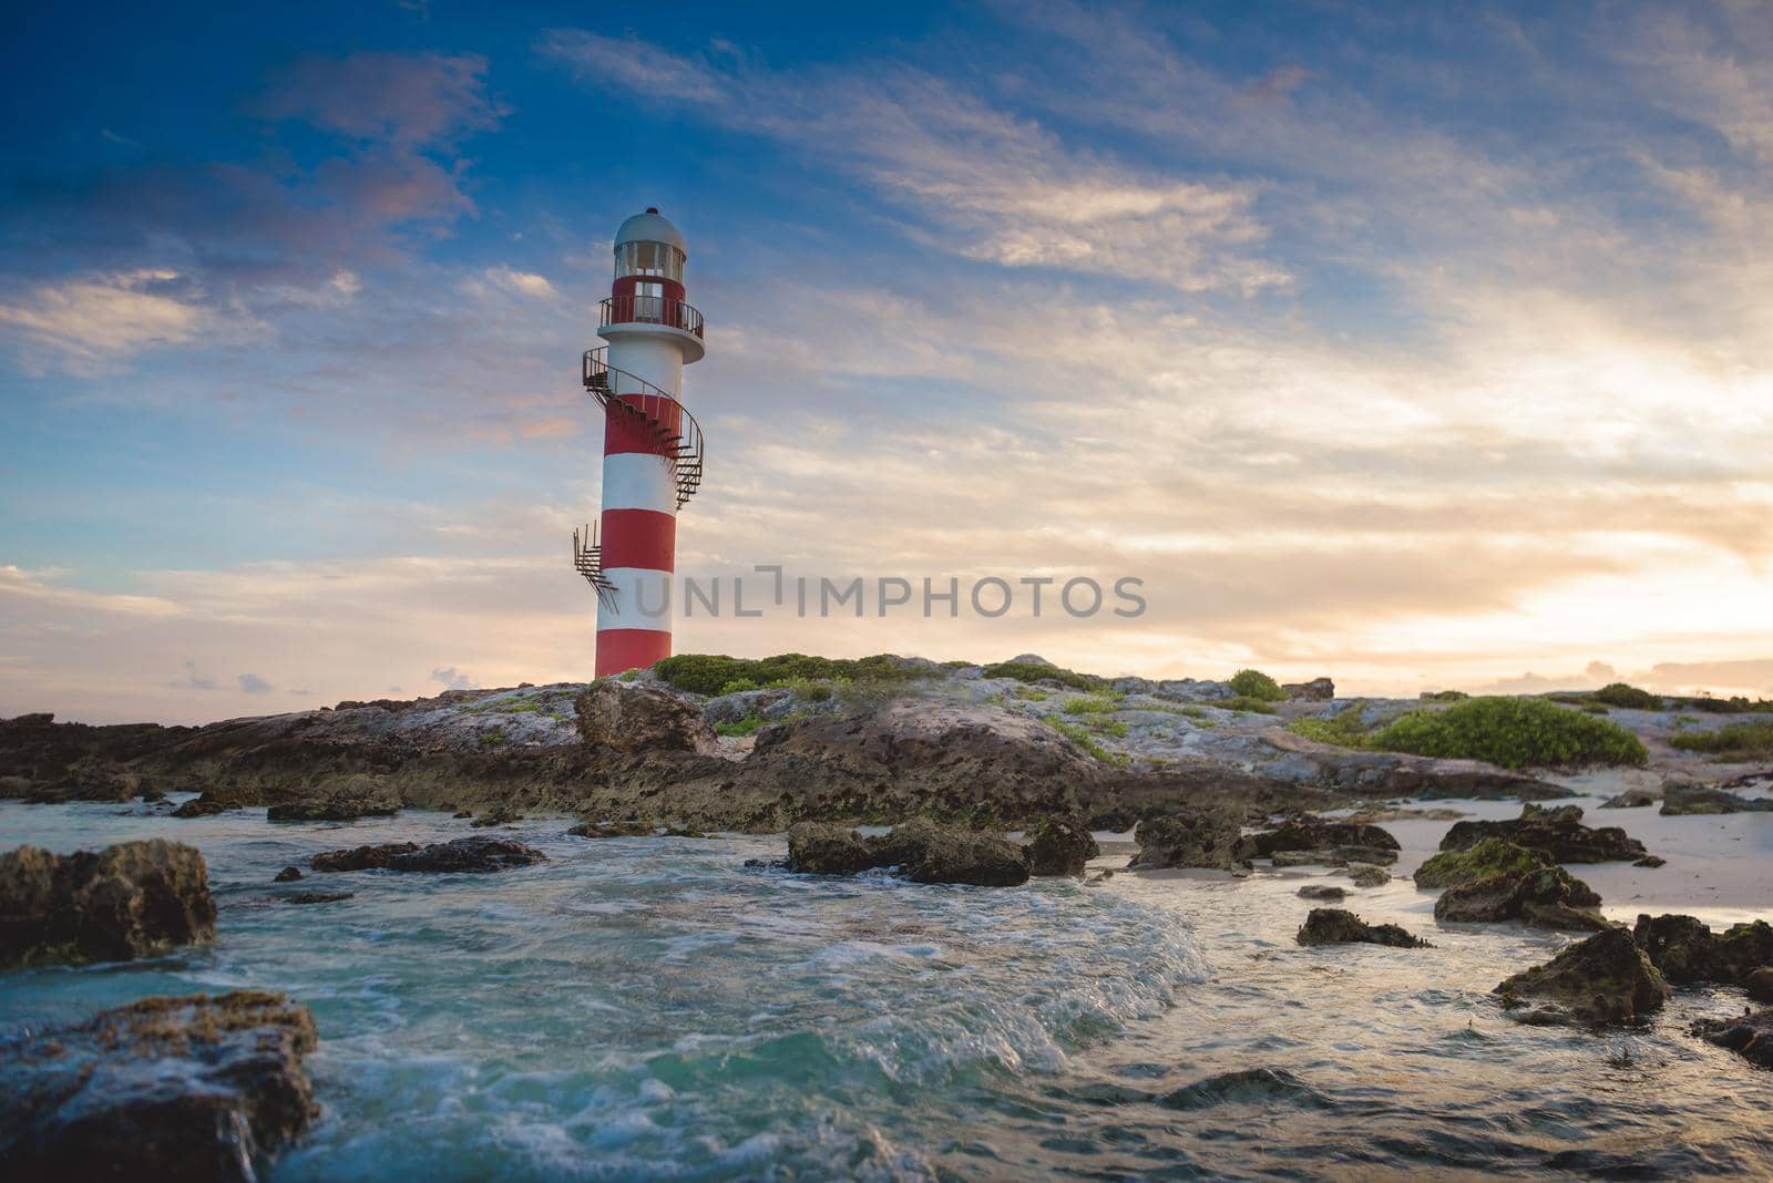
[[[195,847],[154,838],[53,855],[0,855],[0,965],[124,962],[209,940],[216,905]]]

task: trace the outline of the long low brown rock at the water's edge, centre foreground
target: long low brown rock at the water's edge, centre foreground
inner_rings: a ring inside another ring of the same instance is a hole
[[[927,818],[872,838],[823,822],[801,822],[789,831],[791,871],[855,875],[888,866],[899,868],[913,884],[1014,887],[1028,882],[1028,852],[1023,847]]]

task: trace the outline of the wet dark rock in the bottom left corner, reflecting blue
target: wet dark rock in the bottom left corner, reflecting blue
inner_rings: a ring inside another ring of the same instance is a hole
[[[152,997],[0,1057],[0,1162],[18,1183],[245,1183],[319,1112],[314,1017],[280,994]]]

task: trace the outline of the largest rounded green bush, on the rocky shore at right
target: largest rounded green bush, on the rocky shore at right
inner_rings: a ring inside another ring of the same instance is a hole
[[[1504,769],[1649,762],[1644,742],[1617,723],[1537,698],[1468,698],[1445,710],[1411,710],[1374,731],[1369,744]]]

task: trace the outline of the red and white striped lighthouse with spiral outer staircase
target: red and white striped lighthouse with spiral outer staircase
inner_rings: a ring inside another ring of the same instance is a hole
[[[677,510],[702,483],[702,429],[683,367],[700,361],[702,313],[684,296],[683,234],[658,209],[615,232],[615,280],[582,363],[603,411],[603,512],[573,533],[573,567],[598,592],[596,677],[670,657]]]

